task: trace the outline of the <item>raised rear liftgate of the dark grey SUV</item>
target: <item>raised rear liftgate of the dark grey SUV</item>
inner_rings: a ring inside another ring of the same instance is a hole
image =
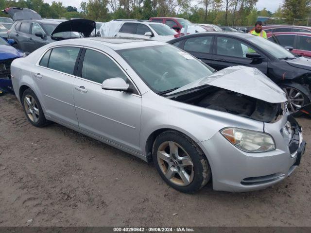
[[[23,7],[9,7],[4,9],[2,12],[8,14],[14,21],[24,19],[42,19],[41,16],[35,11]]]

